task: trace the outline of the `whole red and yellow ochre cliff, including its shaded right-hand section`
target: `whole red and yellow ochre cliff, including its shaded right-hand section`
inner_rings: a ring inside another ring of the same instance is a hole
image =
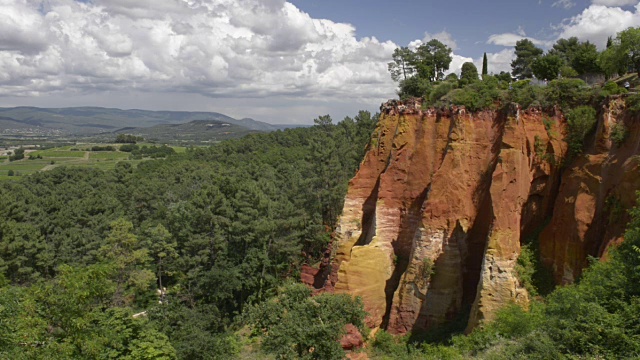
[[[523,239],[547,223],[543,260],[558,282],[572,281],[587,255],[620,238],[619,208],[640,188],[640,142],[609,139],[619,122],[640,139],[623,104],[602,109],[593,145],[568,167],[557,110],[383,104],[349,184],[325,289],[361,296],[372,328],[401,334],[469,314],[471,329],[505,304],[526,306],[516,261]]]

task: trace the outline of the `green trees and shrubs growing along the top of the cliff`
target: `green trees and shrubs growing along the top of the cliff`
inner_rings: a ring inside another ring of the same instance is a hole
[[[599,103],[608,95],[626,93],[620,83],[588,86],[584,79],[609,79],[628,69],[640,71],[640,28],[629,28],[610,38],[607,49],[598,52],[590,42],[559,39],[545,54],[530,40],[516,43],[512,73],[483,74],[473,63],[462,65],[460,77],[444,72],[451,63],[451,49],[431,40],[415,50],[398,48],[389,63],[391,77],[399,83],[401,99],[422,97],[427,106],[464,105],[471,111],[515,102],[523,107],[561,105],[565,110]],[[513,78],[512,78],[513,76]],[[543,83],[534,83],[532,78]],[[514,78],[520,81],[515,81]],[[547,84],[548,82],[548,84]],[[532,86],[537,85],[537,86]],[[542,86],[540,86],[542,85]]]

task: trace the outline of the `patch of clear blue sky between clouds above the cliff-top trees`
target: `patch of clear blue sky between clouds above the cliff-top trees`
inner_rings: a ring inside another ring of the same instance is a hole
[[[446,31],[456,40],[457,53],[469,57],[502,50],[501,46],[487,44],[493,34],[523,30],[534,38],[555,40],[555,26],[591,5],[590,1],[579,1],[566,9],[548,0],[291,2],[313,17],[353,24],[359,37],[375,36],[406,45],[425,32]]]

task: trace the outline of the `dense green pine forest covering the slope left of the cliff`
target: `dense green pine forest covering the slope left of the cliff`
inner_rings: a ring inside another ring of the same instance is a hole
[[[0,358],[228,359],[238,315],[322,255],[375,124],[2,183]]]

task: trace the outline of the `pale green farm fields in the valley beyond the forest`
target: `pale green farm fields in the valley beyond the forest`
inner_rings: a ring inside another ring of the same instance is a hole
[[[91,144],[83,144],[31,151],[25,154],[25,159],[12,162],[9,162],[6,156],[0,157],[0,181],[16,179],[38,171],[52,170],[61,166],[108,170],[115,168],[116,164],[121,161],[137,166],[140,162],[149,160],[129,160],[130,153],[122,151],[89,151],[91,146]],[[174,150],[177,153],[183,153],[186,148],[174,147]],[[40,158],[32,160],[29,157]]]

